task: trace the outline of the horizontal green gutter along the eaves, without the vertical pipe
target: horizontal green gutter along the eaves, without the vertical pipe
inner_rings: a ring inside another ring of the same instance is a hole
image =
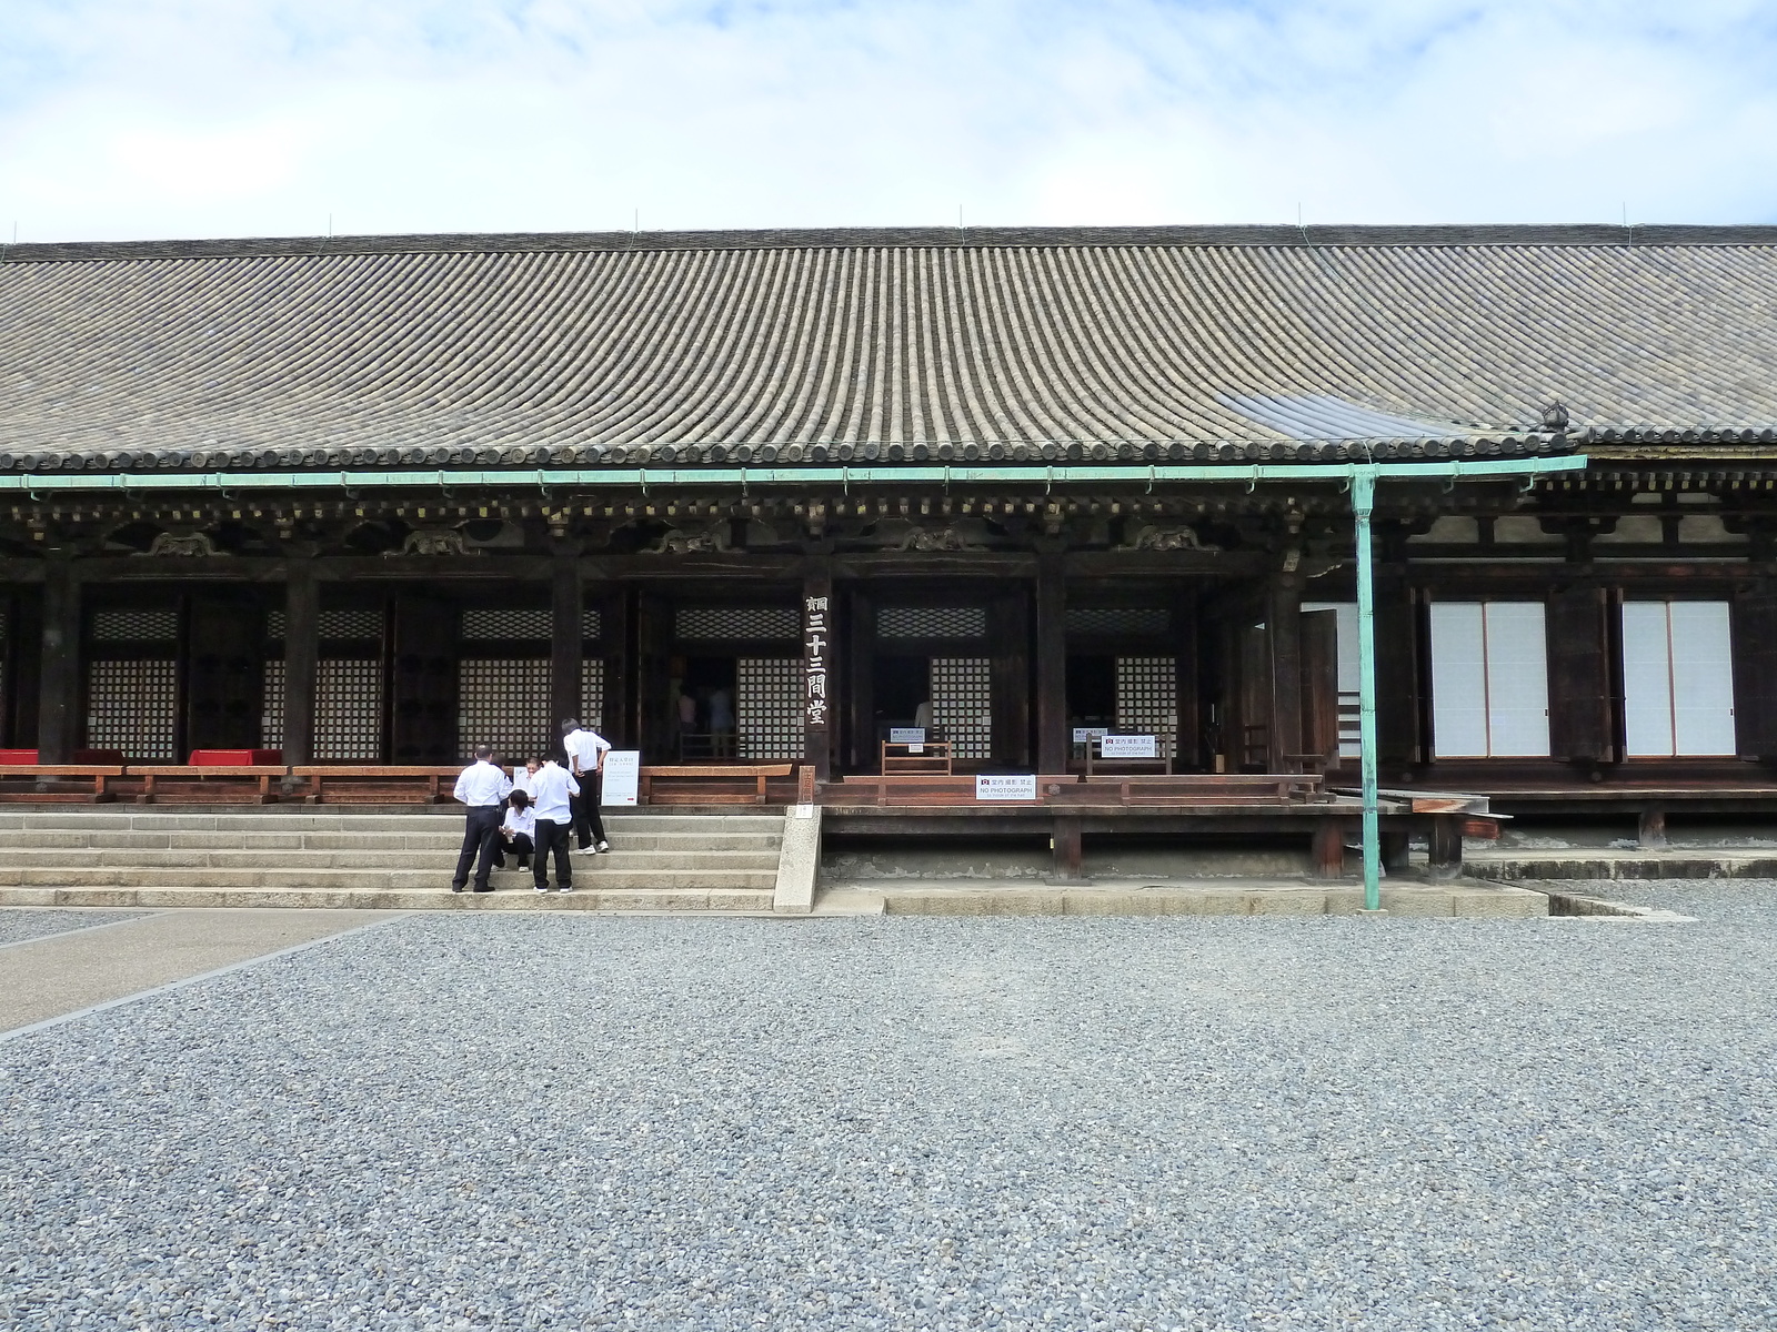
[[[1107,464],[1056,467],[579,467],[570,471],[396,471],[396,472],[9,472],[0,492],[23,490],[391,490],[446,487],[640,488],[711,485],[1079,485],[1079,483],[1249,483],[1349,481],[1358,471],[1388,481],[1542,476],[1585,469],[1585,456],[1477,458],[1464,462],[1374,464]]]

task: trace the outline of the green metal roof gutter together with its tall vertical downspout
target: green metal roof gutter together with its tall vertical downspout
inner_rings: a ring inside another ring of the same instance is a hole
[[[1107,464],[1056,467],[972,464],[963,467],[583,467],[533,471],[394,471],[394,472],[9,472],[0,492],[25,490],[43,497],[55,490],[380,490],[393,487],[707,487],[707,485],[1018,485],[1041,483],[1148,483],[1157,481],[1343,481],[1351,487],[1358,526],[1358,737],[1363,751],[1363,906],[1383,904],[1383,845],[1377,824],[1375,762],[1375,572],[1370,561],[1370,513],[1375,483],[1537,478],[1585,471],[1585,455],[1553,458],[1482,458],[1475,462],[1367,462],[1367,464]]]

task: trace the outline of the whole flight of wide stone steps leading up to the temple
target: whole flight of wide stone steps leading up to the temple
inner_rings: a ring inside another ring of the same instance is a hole
[[[0,812],[0,906],[771,911],[784,838],[775,813],[606,813],[611,852],[572,858],[572,893],[537,893],[510,867],[494,870],[492,893],[451,893],[462,822],[430,810]]]

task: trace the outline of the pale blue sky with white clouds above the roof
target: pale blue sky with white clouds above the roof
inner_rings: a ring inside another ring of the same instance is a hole
[[[1754,0],[0,0],[0,243],[1777,220]]]

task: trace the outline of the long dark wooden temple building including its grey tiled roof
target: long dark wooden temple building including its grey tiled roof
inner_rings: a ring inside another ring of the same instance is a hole
[[[1777,760],[1777,227],[0,250],[0,744],[1349,773]]]

